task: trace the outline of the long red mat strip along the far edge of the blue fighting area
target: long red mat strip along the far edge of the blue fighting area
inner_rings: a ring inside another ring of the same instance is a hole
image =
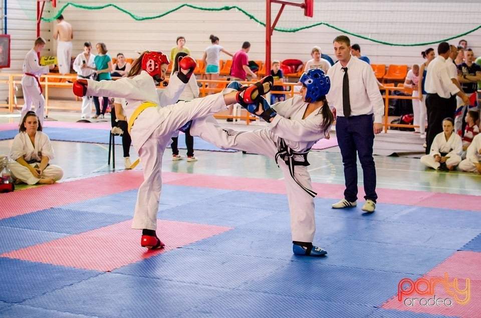
[[[128,181],[126,181],[128,180]],[[258,179],[237,176],[204,175],[179,172],[162,172],[165,184],[211,187],[241,191],[285,194],[284,180]],[[143,181],[142,170],[124,170],[95,177],[61,182],[2,194],[0,219],[29,213],[45,208],[60,206],[136,189]],[[342,184],[313,183],[318,197],[340,198],[344,191]],[[433,193],[395,189],[377,189],[380,203],[406,204],[426,207],[452,208],[479,211],[475,195]],[[364,195],[359,188],[359,197]],[[362,199],[361,199],[362,200]]]

